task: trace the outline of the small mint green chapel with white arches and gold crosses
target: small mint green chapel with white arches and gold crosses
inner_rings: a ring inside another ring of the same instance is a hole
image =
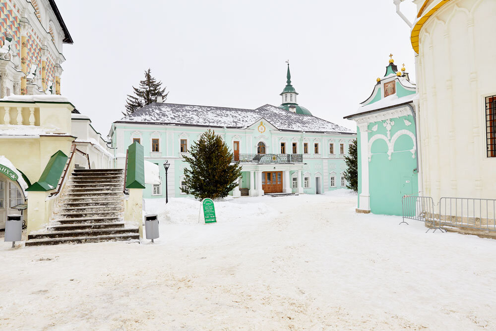
[[[372,94],[345,119],[357,123],[358,212],[402,215],[402,197],[419,192],[416,87],[389,60]]]

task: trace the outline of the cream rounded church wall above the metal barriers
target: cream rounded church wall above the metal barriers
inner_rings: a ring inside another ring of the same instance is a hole
[[[496,95],[496,2],[451,0],[424,24],[418,74],[425,195],[496,198],[485,97]]]

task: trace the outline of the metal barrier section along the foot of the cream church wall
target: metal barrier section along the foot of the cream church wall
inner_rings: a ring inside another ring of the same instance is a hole
[[[496,200],[473,198],[441,198],[441,225],[496,231]]]

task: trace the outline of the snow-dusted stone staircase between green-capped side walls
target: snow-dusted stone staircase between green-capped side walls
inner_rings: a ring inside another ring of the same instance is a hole
[[[139,240],[124,223],[123,169],[74,169],[47,229],[26,246]]]

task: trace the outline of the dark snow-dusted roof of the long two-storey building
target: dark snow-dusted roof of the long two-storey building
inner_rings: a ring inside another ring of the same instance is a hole
[[[272,105],[256,109],[151,103],[116,123],[153,123],[200,127],[247,128],[260,119],[282,131],[354,133],[312,115],[289,112]]]

